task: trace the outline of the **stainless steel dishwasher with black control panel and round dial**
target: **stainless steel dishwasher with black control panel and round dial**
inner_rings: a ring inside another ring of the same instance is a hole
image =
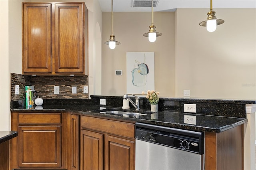
[[[135,124],[136,170],[204,170],[204,132]]]

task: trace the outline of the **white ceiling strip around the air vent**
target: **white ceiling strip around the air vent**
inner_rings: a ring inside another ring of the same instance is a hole
[[[111,12],[111,0],[98,0],[102,12]],[[176,8],[209,8],[210,0],[159,0],[156,11]],[[212,8],[256,8],[256,0],[212,0]],[[151,7],[132,8],[132,0],[113,0],[113,12],[151,12]]]

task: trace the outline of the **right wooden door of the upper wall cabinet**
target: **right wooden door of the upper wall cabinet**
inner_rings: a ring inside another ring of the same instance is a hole
[[[55,4],[53,56],[56,73],[84,72],[83,3]]]

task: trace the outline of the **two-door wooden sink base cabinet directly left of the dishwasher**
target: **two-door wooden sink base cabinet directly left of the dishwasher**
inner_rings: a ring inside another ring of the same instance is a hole
[[[134,170],[134,123],[81,116],[80,170]]]

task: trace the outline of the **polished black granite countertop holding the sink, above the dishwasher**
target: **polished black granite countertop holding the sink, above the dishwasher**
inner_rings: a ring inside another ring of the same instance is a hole
[[[105,109],[105,110],[100,110]],[[60,112],[68,111],[78,113],[80,115],[92,115],[102,117],[106,119],[118,119],[120,121],[134,121],[149,123],[154,125],[162,125],[167,127],[183,128],[188,130],[207,131],[207,132],[222,132],[232,127],[242,125],[247,122],[247,119],[236,117],[221,117],[212,115],[200,115],[190,113],[178,113],[171,111],[158,111],[158,113],[152,113],[149,110],[141,110],[140,112],[146,113],[143,116],[130,116],[124,117],[122,115],[110,115],[105,111],[111,109],[118,109],[121,111],[132,111],[133,109],[120,109],[116,107],[104,107],[98,105],[43,105],[42,107],[33,107],[32,109],[25,109],[24,107],[14,108],[11,111],[18,112]],[[196,116],[196,125],[184,123],[184,115]]]

